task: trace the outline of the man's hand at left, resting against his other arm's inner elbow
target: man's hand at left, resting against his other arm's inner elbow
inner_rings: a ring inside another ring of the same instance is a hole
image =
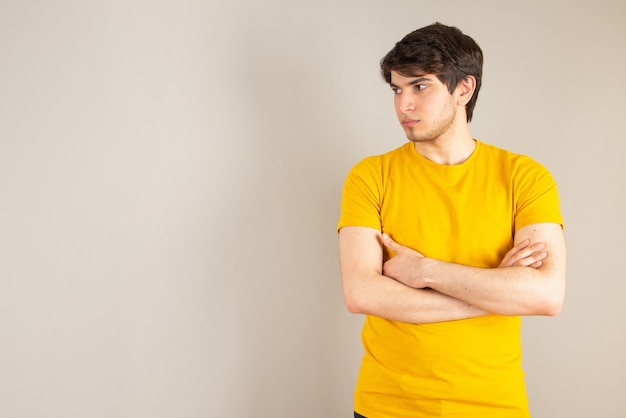
[[[424,285],[423,261],[426,258],[419,252],[398,244],[387,234],[382,235],[385,247],[396,253],[383,264],[383,274],[409,287],[421,289]]]

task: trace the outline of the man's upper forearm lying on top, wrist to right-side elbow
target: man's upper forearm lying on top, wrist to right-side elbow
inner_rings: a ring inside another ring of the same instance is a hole
[[[528,267],[476,268],[434,259],[426,263],[424,285],[501,315],[556,315],[564,277]]]

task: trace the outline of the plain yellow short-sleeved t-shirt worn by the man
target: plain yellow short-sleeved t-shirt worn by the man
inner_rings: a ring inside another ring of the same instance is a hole
[[[562,224],[556,185],[540,164],[477,141],[464,163],[440,165],[409,142],[350,171],[338,228],[375,228],[427,257],[497,267],[515,231],[542,222]],[[528,417],[520,325],[500,315],[436,324],[367,315],[355,410],[370,418]]]

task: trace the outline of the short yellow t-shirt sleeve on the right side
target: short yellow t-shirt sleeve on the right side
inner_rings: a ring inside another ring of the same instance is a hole
[[[516,169],[514,182],[515,230],[544,222],[563,227],[556,183],[545,167],[524,157]]]

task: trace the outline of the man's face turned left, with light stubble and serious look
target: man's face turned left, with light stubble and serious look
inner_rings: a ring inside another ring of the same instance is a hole
[[[437,76],[405,77],[392,71],[390,86],[398,120],[409,141],[433,141],[452,131],[458,120],[457,100]]]

